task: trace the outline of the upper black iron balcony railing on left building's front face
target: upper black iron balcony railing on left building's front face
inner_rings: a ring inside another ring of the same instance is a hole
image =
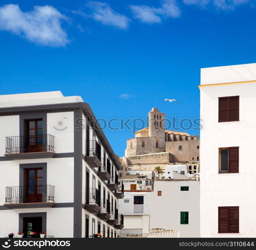
[[[54,136],[51,134],[8,136],[6,153],[54,152]]]

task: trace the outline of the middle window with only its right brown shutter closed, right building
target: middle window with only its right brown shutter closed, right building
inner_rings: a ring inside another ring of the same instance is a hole
[[[219,172],[239,172],[239,147],[219,148]]]

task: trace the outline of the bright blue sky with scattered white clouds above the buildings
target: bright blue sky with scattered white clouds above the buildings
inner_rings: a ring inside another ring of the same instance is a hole
[[[168,118],[199,118],[200,68],[256,61],[254,4],[2,0],[0,93],[81,95],[107,120],[145,119],[155,103]],[[133,131],[105,134],[124,155]]]

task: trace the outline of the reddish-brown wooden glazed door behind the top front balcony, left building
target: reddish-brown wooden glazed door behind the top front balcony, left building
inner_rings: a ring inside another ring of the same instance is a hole
[[[26,143],[28,152],[43,151],[43,120],[27,120]]]

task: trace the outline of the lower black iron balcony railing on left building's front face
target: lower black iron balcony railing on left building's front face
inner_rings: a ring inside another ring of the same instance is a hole
[[[53,185],[7,186],[6,203],[54,202]]]

